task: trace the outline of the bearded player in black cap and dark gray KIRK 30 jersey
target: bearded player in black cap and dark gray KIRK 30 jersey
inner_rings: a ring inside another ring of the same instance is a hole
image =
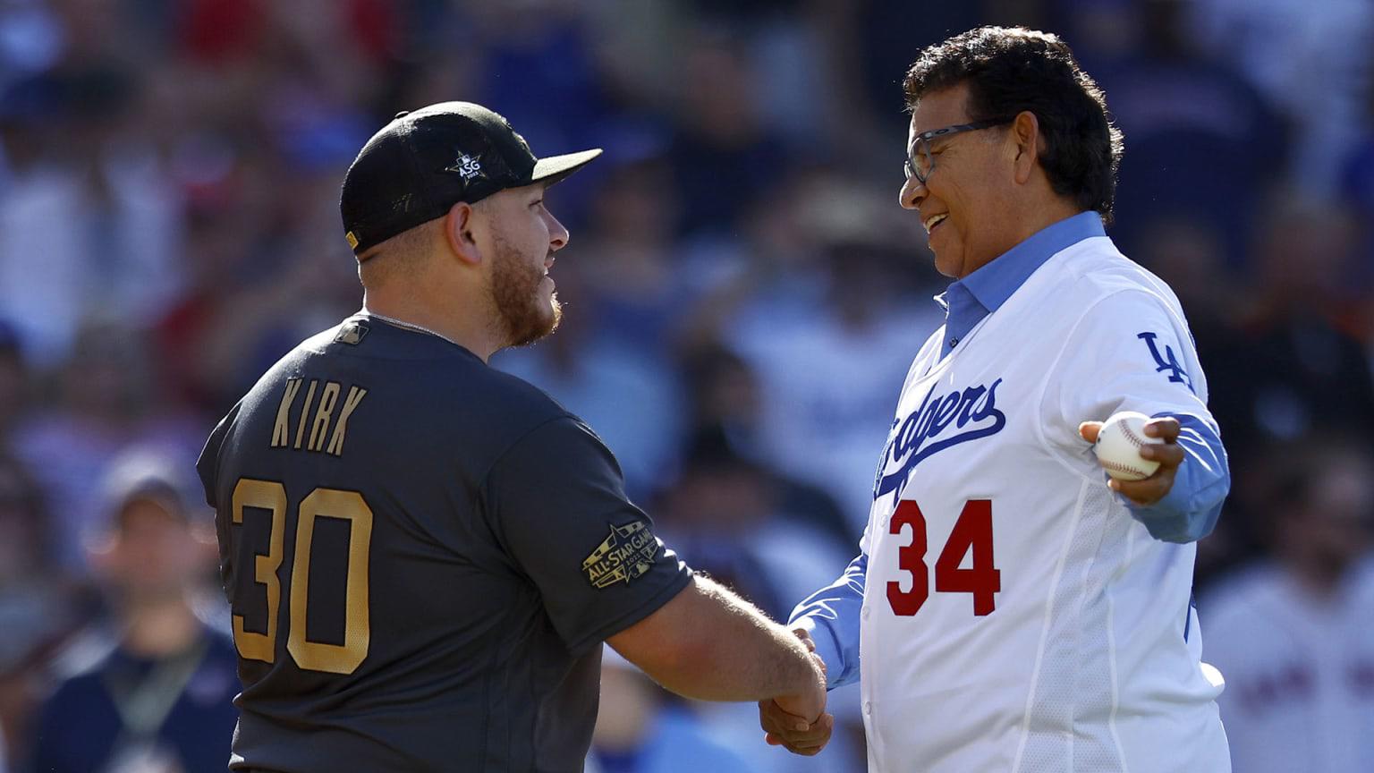
[[[243,682],[231,769],[581,770],[603,641],[827,736],[804,644],[692,576],[600,439],[486,364],[556,326],[569,235],[544,193],[599,153],[536,158],[447,102],[349,168],[363,309],[268,370],[198,464]]]

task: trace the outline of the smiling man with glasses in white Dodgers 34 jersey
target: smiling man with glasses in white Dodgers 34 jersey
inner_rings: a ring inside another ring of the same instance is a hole
[[[955,279],[901,389],[860,554],[793,612],[859,679],[872,773],[1230,770],[1191,611],[1230,477],[1179,303],[1103,232],[1120,133],[1052,34],[922,52],[901,205]],[[1091,440],[1151,417],[1149,479]],[[760,704],[771,743],[805,743]]]

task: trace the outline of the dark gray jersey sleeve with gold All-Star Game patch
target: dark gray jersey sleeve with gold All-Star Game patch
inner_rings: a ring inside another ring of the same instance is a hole
[[[572,417],[506,451],[484,495],[497,538],[573,652],[649,616],[691,580],[625,497],[610,450]]]

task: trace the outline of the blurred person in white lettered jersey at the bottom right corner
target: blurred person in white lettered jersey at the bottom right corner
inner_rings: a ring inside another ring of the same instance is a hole
[[[1245,773],[1374,770],[1374,448],[1319,431],[1270,457],[1274,560],[1204,597],[1204,659]]]

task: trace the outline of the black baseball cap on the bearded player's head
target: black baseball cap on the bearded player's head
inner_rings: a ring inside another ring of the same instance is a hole
[[[600,149],[536,158],[500,114],[471,102],[397,113],[344,176],[339,210],[353,254],[445,215],[460,201],[562,180]]]

